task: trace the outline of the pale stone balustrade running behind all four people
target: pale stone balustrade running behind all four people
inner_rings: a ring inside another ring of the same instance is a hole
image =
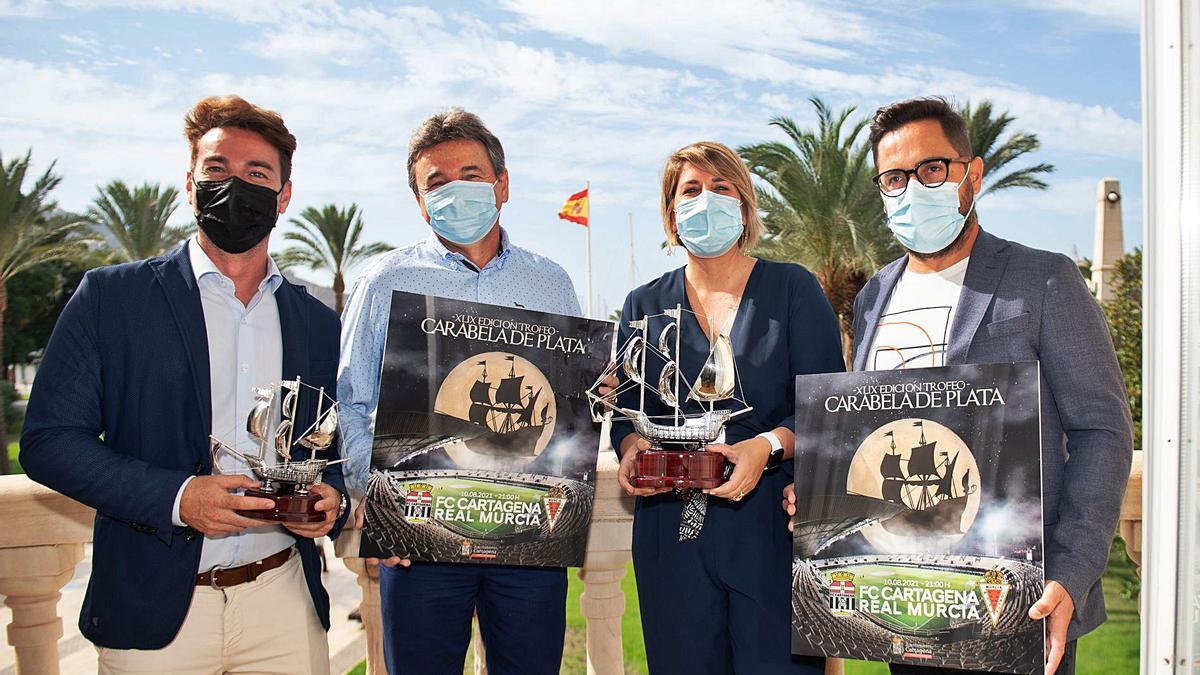
[[[617,485],[617,462],[601,453],[596,498],[588,554],[580,579],[580,599],[587,619],[589,675],[624,673],[620,617],[625,596],[620,581],[630,560],[632,500]],[[12,609],[7,641],[16,650],[18,675],[59,673],[58,640],[60,590],[83,558],[91,540],[92,509],[43,488],[24,476],[0,476],[0,595]],[[1135,566],[1141,565],[1141,453],[1135,453],[1133,473],[1121,512],[1121,536]],[[384,675],[378,572],[356,557],[359,532],[349,530],[335,542],[342,562],[359,579],[360,613],[366,632],[368,675]],[[74,617],[68,617],[74,620]],[[486,673],[482,645],[475,645],[476,673]],[[828,671],[840,673],[830,661]]]

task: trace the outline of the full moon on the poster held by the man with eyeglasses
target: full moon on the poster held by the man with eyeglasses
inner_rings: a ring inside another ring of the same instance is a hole
[[[916,450],[918,447],[926,449]],[[923,548],[913,545],[922,539],[948,546],[966,534],[979,513],[979,466],[949,428],[910,417],[880,426],[858,446],[846,491],[906,507],[889,521],[862,530],[880,551],[912,551]],[[940,532],[928,525],[934,520],[940,522]]]

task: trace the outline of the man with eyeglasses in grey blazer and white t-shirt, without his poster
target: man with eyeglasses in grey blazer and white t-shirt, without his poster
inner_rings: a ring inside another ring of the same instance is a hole
[[[942,98],[880,108],[870,129],[888,227],[907,253],[854,300],[854,370],[1039,360],[1045,673],[1105,620],[1100,575],[1129,477],[1129,404],[1108,324],[1067,256],[979,227],[984,165]],[[794,510],[785,490],[784,508]],[[892,673],[964,673],[892,664]]]

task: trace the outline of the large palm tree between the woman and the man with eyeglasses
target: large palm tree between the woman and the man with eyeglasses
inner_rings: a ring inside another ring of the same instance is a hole
[[[833,305],[848,352],[854,295],[900,249],[884,225],[883,202],[871,183],[870,145],[859,143],[868,121],[851,121],[853,107],[832,110],[810,98],[815,130],[775,118],[791,145],[767,141],[738,148],[761,179],[755,191],[767,233],[754,253],[808,267]]]

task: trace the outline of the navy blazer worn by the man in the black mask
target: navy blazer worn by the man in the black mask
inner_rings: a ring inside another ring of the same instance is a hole
[[[54,327],[25,413],[25,472],[96,509],[79,631],[102,647],[162,649],[196,587],[204,537],[172,522],[184,480],[212,471],[208,336],[187,246],[84,275]],[[337,315],[287,280],[275,300],[283,377],[335,392]],[[325,471],[325,482],[346,492],[340,466]],[[296,548],[328,629],[317,548],[302,537]]]

